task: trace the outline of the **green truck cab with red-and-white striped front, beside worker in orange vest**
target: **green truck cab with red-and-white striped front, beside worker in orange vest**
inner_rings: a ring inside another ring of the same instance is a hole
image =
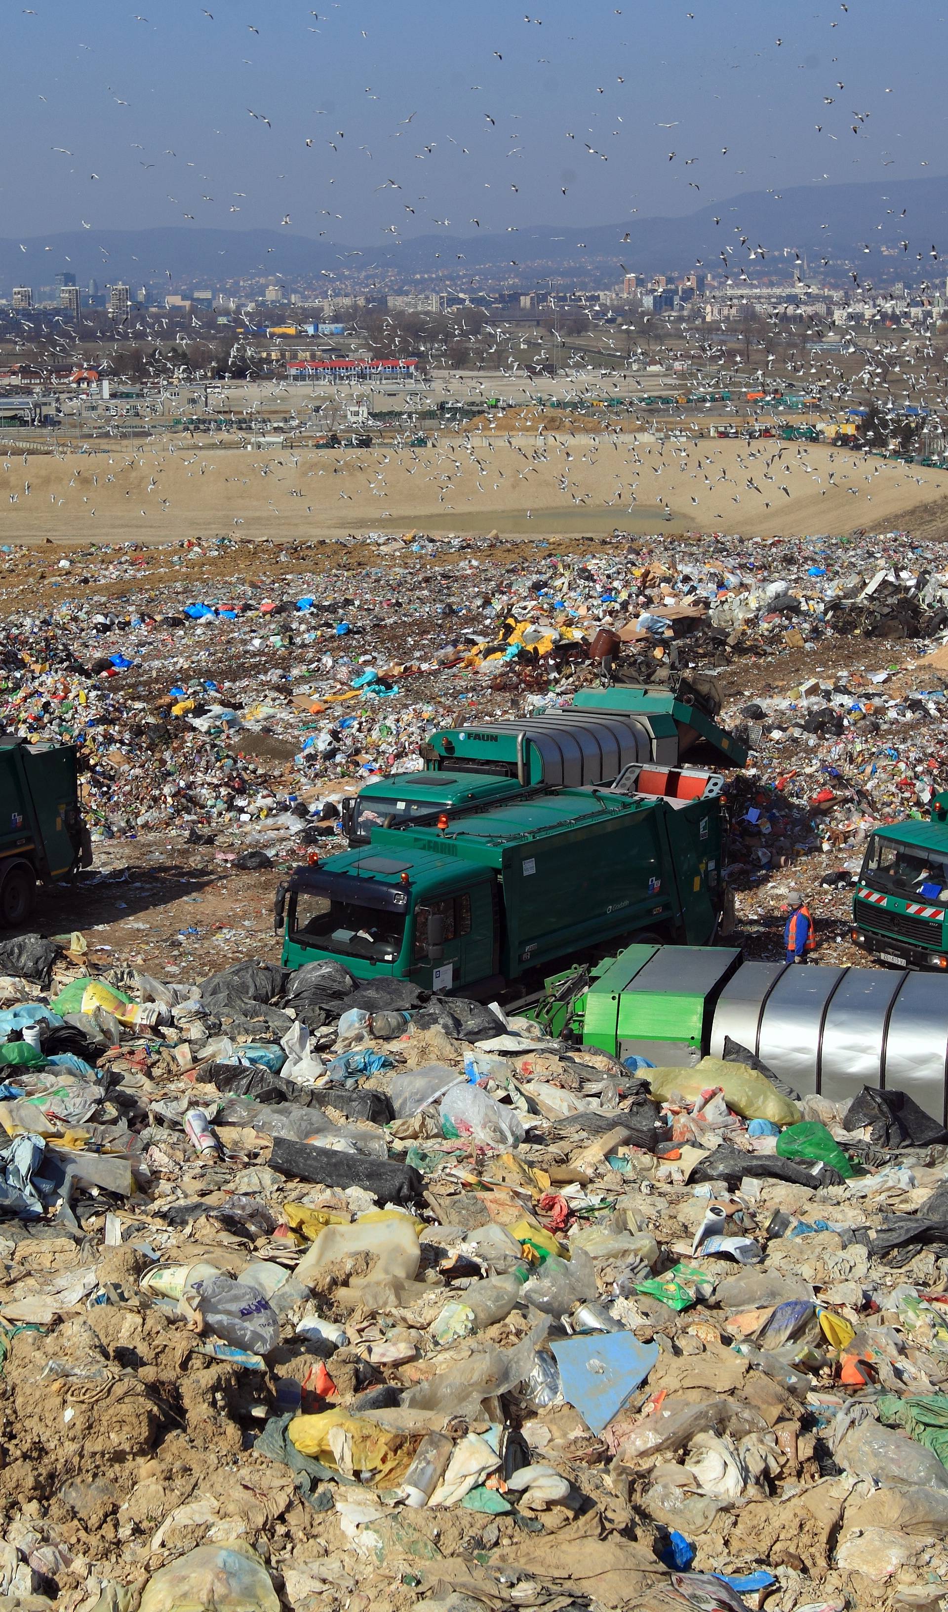
[[[948,969],[946,919],[948,795],[937,795],[930,822],[893,822],[869,837],[853,940],[900,969]]]

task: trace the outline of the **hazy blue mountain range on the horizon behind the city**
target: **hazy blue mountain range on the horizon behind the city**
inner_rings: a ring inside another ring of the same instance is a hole
[[[742,243],[742,237],[745,237]],[[908,250],[903,248],[908,242]],[[895,248],[896,256],[880,248]],[[764,256],[761,256],[761,250]],[[866,250],[869,248],[869,250]],[[751,277],[795,253],[822,271],[848,263],[859,280],[943,280],[948,272],[948,177],[751,190],[684,218],[632,218],[593,227],[526,226],[474,237],[414,235],[385,247],[353,248],[289,231],[189,229],[68,231],[0,240],[0,287],[52,285],[71,269],[81,285],[123,282],[156,289],[218,290],[242,279],[272,277],[290,289],[345,282],[360,290],[410,290],[477,282],[524,285],[553,277],[611,285],[622,271],[680,274],[743,268]],[[921,253],[921,260],[919,255]],[[935,253],[935,255],[932,255]]]

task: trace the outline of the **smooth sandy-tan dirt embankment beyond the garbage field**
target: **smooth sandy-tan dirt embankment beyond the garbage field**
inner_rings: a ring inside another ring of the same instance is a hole
[[[724,530],[748,537],[937,532],[948,472],[817,443],[555,430],[442,435],[427,448],[195,448],[161,443],[0,459],[0,542],[155,540],[231,532]],[[526,522],[529,521],[529,526]]]

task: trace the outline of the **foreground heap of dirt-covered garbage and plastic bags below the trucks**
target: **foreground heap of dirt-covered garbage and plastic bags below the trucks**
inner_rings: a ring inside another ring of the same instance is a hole
[[[0,970],[5,1607],[943,1604],[909,1099],[327,959]]]

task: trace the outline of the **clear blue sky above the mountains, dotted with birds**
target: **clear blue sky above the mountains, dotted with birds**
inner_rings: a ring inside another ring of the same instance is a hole
[[[933,176],[946,15],[933,0],[11,0],[0,234],[289,219],[374,245]]]

